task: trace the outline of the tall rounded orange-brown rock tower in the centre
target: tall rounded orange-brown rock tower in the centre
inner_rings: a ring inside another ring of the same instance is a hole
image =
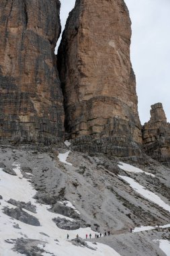
[[[65,127],[77,150],[140,154],[131,22],[123,0],[77,0],[58,50]]]

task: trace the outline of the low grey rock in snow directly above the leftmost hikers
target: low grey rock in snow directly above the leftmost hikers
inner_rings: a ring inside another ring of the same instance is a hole
[[[56,226],[60,229],[65,229],[65,230],[76,230],[80,228],[80,223],[79,222],[72,222],[71,220],[66,220],[65,218],[54,218],[52,219],[55,223]]]

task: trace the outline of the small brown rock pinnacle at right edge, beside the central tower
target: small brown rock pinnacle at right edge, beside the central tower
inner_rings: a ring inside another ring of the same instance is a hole
[[[170,166],[170,123],[161,103],[151,106],[151,119],[142,128],[142,137],[146,154]]]

